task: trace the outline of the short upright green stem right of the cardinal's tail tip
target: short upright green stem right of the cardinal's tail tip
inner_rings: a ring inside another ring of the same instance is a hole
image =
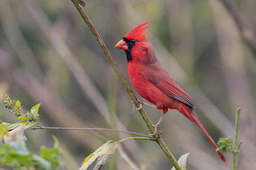
[[[239,153],[239,148],[241,146],[241,143],[237,147],[237,136],[238,136],[238,125],[239,125],[239,118],[240,118],[240,112],[241,108],[238,108],[236,113],[236,129],[235,129],[235,137],[234,137],[234,146],[233,146],[233,170],[237,169],[237,153]]]

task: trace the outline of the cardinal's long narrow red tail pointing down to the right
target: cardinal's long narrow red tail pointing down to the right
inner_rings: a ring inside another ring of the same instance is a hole
[[[212,139],[211,135],[206,131],[204,125],[202,125],[202,123],[200,122],[200,120],[198,119],[195,111],[193,110],[189,110],[189,115],[191,116],[191,120],[192,122],[194,122],[199,128],[200,130],[204,133],[204,135],[206,136],[206,138],[210,141],[210,143],[212,144],[212,146],[214,147],[214,149],[216,150],[216,152],[218,153],[218,155],[220,156],[220,158],[224,161],[227,162],[227,160],[225,159],[224,155],[220,152],[218,146],[216,145],[216,143],[214,142],[214,140]],[[189,118],[190,119],[190,118]]]

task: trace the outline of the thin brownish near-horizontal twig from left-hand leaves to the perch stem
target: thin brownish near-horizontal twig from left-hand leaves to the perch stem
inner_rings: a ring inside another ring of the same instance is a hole
[[[112,131],[112,132],[122,132],[122,133],[126,133],[126,134],[136,134],[138,136],[148,137],[147,134],[140,134],[137,132],[120,131],[120,130],[116,130],[116,129],[95,128],[95,127],[45,127],[45,126],[38,125],[38,127],[33,127],[29,130],[36,130],[36,129]]]

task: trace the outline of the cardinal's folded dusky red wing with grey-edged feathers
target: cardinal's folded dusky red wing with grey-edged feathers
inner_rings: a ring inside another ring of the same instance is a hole
[[[174,79],[173,82],[166,81],[164,80],[164,78],[155,78],[155,76],[150,76],[149,74],[145,74],[145,77],[148,79],[148,81],[150,81],[150,83],[155,85],[158,89],[162,90],[164,94],[173,97],[177,101],[187,104],[191,108],[195,108],[195,104],[192,103],[191,99],[189,99],[186,92],[184,92],[184,90],[181,89],[179,83],[177,83],[177,81],[175,81]],[[171,77],[170,80],[172,80]]]

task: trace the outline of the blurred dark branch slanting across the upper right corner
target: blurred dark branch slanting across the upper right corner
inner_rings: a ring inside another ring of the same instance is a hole
[[[256,56],[256,39],[255,36],[253,35],[253,32],[246,27],[246,25],[243,23],[241,18],[239,17],[235,6],[230,3],[228,0],[220,0],[221,3],[225,6],[227,9],[228,13],[230,13],[231,17],[233,18],[237,29],[240,31],[240,34],[244,41],[250,46],[252,51],[255,53]]]

